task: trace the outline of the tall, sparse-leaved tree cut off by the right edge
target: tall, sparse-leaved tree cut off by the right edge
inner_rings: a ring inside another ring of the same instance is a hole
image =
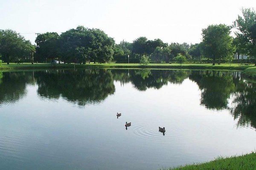
[[[256,66],[256,13],[250,8],[242,8],[242,16],[234,22],[239,43],[245,46],[247,54],[255,59]]]

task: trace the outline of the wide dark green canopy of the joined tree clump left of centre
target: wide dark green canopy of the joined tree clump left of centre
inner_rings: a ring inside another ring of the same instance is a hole
[[[61,35],[55,32],[38,35],[37,54],[44,58],[64,59],[64,62],[109,62],[113,59],[114,40],[100,29],[78,26]]]

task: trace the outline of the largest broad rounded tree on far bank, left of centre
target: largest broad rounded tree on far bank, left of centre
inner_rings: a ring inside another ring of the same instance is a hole
[[[78,26],[61,34],[61,55],[68,61],[109,62],[113,59],[114,40],[104,31]]]

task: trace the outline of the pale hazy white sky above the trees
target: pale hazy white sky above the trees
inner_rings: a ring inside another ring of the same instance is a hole
[[[201,42],[202,28],[231,25],[256,0],[0,0],[0,29],[35,44],[35,33],[84,26],[99,28],[116,43],[145,36],[163,42]],[[24,34],[31,33],[31,34]]]

